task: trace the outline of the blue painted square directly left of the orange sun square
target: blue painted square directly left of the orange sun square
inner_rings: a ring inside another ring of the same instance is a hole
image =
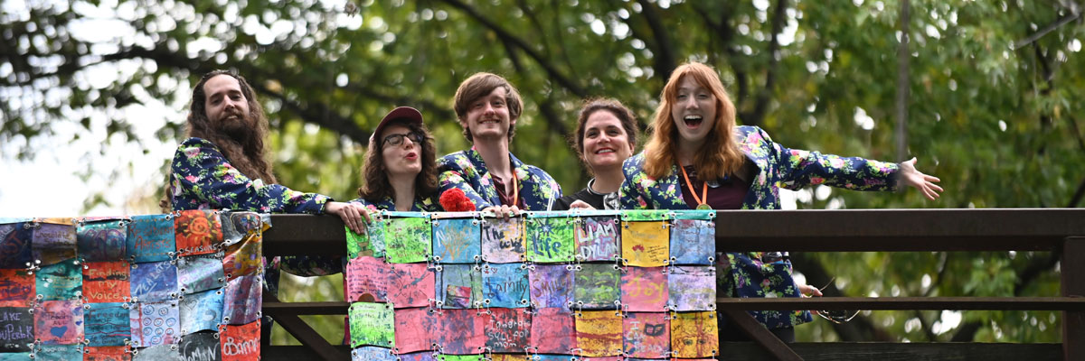
[[[169,260],[177,252],[174,216],[135,216],[128,223],[128,257],[133,262]]]

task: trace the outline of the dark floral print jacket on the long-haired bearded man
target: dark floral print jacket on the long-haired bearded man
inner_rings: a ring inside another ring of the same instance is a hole
[[[233,209],[261,214],[322,214],[326,195],[250,179],[212,142],[189,138],[177,147],[169,176],[174,210]]]

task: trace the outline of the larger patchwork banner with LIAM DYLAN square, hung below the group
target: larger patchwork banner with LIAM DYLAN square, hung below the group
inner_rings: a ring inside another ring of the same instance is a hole
[[[352,358],[713,359],[714,216],[381,212],[346,230]]]

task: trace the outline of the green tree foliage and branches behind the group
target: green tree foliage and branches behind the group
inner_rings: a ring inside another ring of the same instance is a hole
[[[8,149],[20,158],[63,124],[144,141],[131,131],[141,119],[126,109],[164,103],[183,113],[199,75],[234,68],[270,115],[280,181],[353,198],[383,114],[418,107],[438,152],[464,149],[451,96],[469,75],[494,72],[525,99],[513,152],[574,191],[590,177],[566,142],[582,100],[616,98],[647,124],[667,75],[693,60],[720,72],[740,123],[777,142],[902,160],[892,117],[897,1],[91,0],[2,9],[0,142],[16,144]],[[1078,206],[1081,5],[916,0],[909,9],[908,153],[943,179],[943,198],[818,189],[800,194],[800,208]],[[183,117],[170,119],[162,139],[182,134]],[[807,254],[796,269],[812,284],[829,283],[830,294],[1056,295],[1057,259]],[[1058,339],[1050,312],[969,312],[957,324],[952,317],[865,312],[845,325],[800,327],[800,337]]]

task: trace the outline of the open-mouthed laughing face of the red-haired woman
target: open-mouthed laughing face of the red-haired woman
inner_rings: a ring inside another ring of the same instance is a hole
[[[699,147],[716,124],[716,96],[692,76],[685,76],[678,82],[671,119],[678,129],[680,143]]]

